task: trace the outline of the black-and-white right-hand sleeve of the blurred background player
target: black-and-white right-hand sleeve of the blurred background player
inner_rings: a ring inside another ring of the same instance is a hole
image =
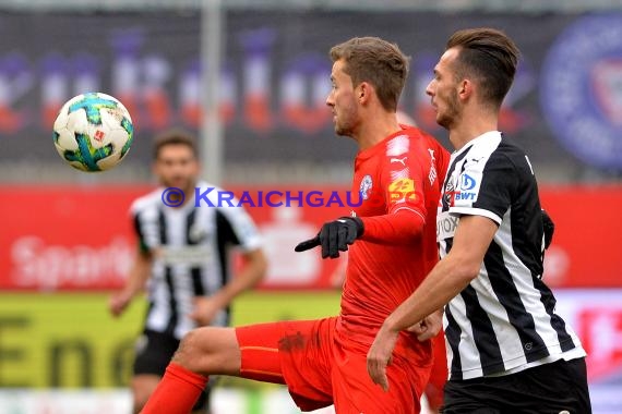
[[[235,200],[235,205],[238,205]],[[252,218],[243,207],[218,207],[218,228],[222,243],[239,246],[244,252],[262,246],[261,235]]]

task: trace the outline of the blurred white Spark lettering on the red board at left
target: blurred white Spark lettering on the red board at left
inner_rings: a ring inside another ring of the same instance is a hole
[[[35,235],[16,239],[11,245],[11,277],[17,287],[55,289],[62,285],[92,287],[122,281],[134,248],[124,238],[107,245],[53,245]]]

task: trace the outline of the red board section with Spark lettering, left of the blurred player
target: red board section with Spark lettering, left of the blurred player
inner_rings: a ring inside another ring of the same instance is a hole
[[[2,186],[0,288],[107,289],[131,263],[137,187]]]

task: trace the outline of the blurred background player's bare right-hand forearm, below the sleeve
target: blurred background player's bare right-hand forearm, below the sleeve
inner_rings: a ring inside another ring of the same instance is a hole
[[[265,277],[267,259],[263,249],[256,248],[242,254],[244,264],[236,277],[212,296],[200,296],[194,301],[190,317],[199,325],[210,325],[218,310],[225,308],[240,293],[254,288]]]

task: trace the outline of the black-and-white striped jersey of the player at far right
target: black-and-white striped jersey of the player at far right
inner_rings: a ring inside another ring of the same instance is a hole
[[[438,215],[441,257],[459,217],[498,226],[479,276],[445,307],[452,379],[503,375],[585,355],[554,314],[542,277],[542,224],[536,179],[525,154],[490,132],[452,155]]]

